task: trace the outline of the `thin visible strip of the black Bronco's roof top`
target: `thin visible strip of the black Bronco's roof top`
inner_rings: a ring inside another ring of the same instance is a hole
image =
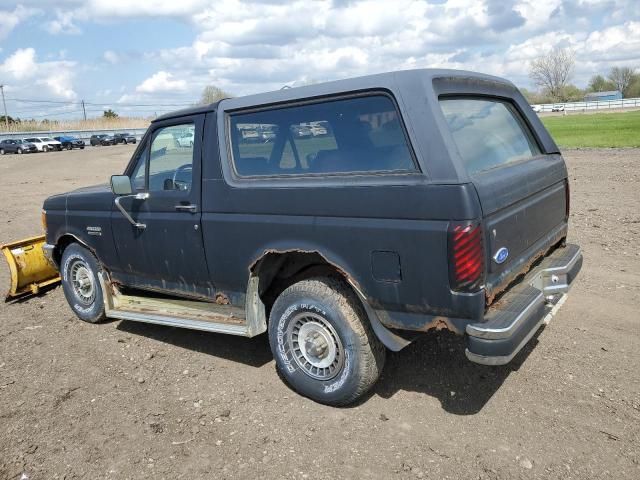
[[[434,78],[441,77],[455,77],[458,79],[482,79],[494,82],[503,83],[513,86],[513,84],[505,80],[504,78],[495,77],[492,75],[486,75],[483,73],[470,72],[466,70],[451,70],[451,69],[439,69],[439,68],[423,68],[414,70],[401,70],[397,72],[378,73],[374,75],[365,75],[361,77],[347,78],[343,80],[334,80],[331,82],[316,83],[313,85],[305,85],[302,87],[283,87],[281,90],[274,90],[271,92],[257,93],[253,95],[247,95],[244,97],[234,98],[233,100],[242,100],[242,103],[254,103],[255,105],[267,104],[280,101],[291,101],[299,98],[309,98],[320,95],[330,95],[341,92],[355,91],[362,88],[379,88],[389,87],[396,83],[398,79],[421,79],[431,81]],[[515,87],[514,87],[515,88]],[[166,113],[159,116],[153,122],[167,120],[176,117],[186,117],[190,115],[198,115],[201,113],[208,113],[215,111],[222,99],[218,102],[210,105],[202,105],[197,107],[185,108],[174,112]],[[153,123],[152,122],[152,123]]]

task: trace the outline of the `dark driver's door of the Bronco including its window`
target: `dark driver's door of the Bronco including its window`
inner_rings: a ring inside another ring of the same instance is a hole
[[[204,116],[154,123],[127,169],[135,193],[111,213],[119,257],[116,279],[129,286],[178,295],[211,296],[201,220],[201,141]],[[192,144],[179,142],[194,131]]]

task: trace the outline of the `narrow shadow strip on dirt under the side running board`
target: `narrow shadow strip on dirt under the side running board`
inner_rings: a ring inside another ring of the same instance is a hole
[[[116,328],[130,335],[140,335],[251,367],[261,367],[273,360],[266,335],[245,338],[127,320],[122,320]]]

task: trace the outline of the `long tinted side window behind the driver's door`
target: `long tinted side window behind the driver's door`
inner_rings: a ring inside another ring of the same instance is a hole
[[[385,94],[234,113],[229,136],[240,176],[416,170],[396,106]]]

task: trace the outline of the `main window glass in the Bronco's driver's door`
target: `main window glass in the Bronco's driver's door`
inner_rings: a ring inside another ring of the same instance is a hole
[[[193,123],[164,127],[154,133],[149,154],[150,192],[191,190],[194,140]]]

